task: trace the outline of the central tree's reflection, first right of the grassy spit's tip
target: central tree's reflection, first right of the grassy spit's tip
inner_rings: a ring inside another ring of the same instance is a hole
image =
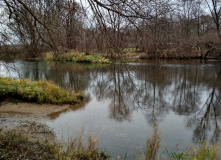
[[[133,96],[136,90],[133,72],[126,64],[113,64],[95,77],[94,93],[98,100],[111,99],[110,118],[130,121],[130,114],[134,110],[131,103],[134,103]]]

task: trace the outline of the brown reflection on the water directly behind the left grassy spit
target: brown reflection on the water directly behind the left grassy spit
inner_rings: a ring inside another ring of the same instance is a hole
[[[65,89],[75,91],[84,91],[90,81],[90,71],[78,64],[31,62],[24,63],[24,69],[20,72],[25,78],[51,80]]]

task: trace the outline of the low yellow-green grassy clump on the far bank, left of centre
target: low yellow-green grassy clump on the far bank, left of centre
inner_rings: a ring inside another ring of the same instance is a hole
[[[76,51],[70,51],[58,56],[55,56],[52,52],[47,52],[44,54],[44,59],[80,63],[111,63],[109,59],[106,59],[101,55],[86,55],[85,53],[80,53]]]

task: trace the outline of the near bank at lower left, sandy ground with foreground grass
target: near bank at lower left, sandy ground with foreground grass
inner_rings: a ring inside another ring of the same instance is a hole
[[[45,123],[53,118],[51,115],[71,109],[70,105],[3,102],[0,106],[0,159],[106,159],[107,155],[98,153],[98,142],[93,137],[84,144],[82,135],[75,135],[71,148],[63,151],[63,144],[57,142]]]

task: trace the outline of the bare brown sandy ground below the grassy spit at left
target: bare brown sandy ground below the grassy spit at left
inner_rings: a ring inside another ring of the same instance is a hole
[[[15,130],[31,141],[55,142],[55,135],[45,125],[53,113],[62,113],[68,105],[3,102],[0,106],[0,130]]]

